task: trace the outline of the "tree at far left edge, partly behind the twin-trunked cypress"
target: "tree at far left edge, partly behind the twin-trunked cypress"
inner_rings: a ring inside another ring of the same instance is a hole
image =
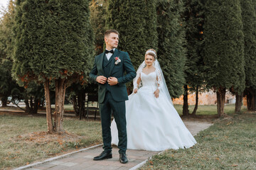
[[[11,77],[11,67],[13,60],[11,56],[14,51],[14,1],[9,1],[8,10],[4,13],[1,26],[0,26],[0,49],[1,49],[1,62],[0,62],[0,94],[2,96],[2,106],[6,106],[7,97],[11,96],[11,102],[16,104],[21,99],[26,103],[26,109],[21,110],[26,113],[37,113],[38,101],[43,98],[41,94],[41,86],[37,84],[28,84],[29,88],[24,89],[23,86],[18,86],[16,81]],[[28,99],[30,102],[28,103]],[[19,107],[20,108],[20,107]]]

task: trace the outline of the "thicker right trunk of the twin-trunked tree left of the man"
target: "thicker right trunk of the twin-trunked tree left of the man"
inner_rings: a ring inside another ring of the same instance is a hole
[[[55,132],[63,132],[63,115],[65,101],[65,79],[55,80],[55,112],[54,128]]]

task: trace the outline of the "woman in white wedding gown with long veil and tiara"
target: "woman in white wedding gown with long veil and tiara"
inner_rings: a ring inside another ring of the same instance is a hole
[[[162,151],[188,148],[196,140],[171,102],[156,51],[146,51],[137,70],[134,91],[126,101],[127,149]],[[112,144],[118,144],[117,125],[111,123]]]

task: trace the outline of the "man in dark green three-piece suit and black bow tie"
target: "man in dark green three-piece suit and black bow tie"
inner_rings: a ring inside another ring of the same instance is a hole
[[[104,151],[93,160],[112,158],[111,147],[111,113],[117,123],[119,161],[122,164],[128,162],[127,130],[125,118],[125,101],[128,100],[125,83],[136,77],[127,52],[117,50],[119,33],[117,30],[107,30],[104,35],[106,50],[95,57],[95,63],[90,78],[99,84],[98,96],[100,103],[100,117],[102,123],[102,138]],[[124,75],[124,72],[126,74]]]

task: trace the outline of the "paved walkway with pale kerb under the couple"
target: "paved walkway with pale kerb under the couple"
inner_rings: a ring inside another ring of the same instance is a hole
[[[186,127],[192,135],[196,135],[201,130],[205,130],[212,123],[202,123],[195,121],[184,121]],[[112,159],[105,159],[102,161],[93,161],[92,158],[97,156],[102,152],[102,145],[97,145],[95,147],[90,147],[87,149],[81,149],[80,151],[73,152],[70,154],[65,154],[59,157],[53,157],[47,159],[44,162],[38,162],[28,166],[22,166],[17,168],[19,169],[31,169],[31,170],[40,170],[40,169],[58,169],[58,170],[103,170],[103,169],[137,169],[139,166],[144,164],[149,157],[152,157],[154,154],[159,154],[159,152],[149,152],[143,150],[127,150],[127,157],[129,162],[127,164],[119,163],[119,154],[118,148],[113,147]]]

